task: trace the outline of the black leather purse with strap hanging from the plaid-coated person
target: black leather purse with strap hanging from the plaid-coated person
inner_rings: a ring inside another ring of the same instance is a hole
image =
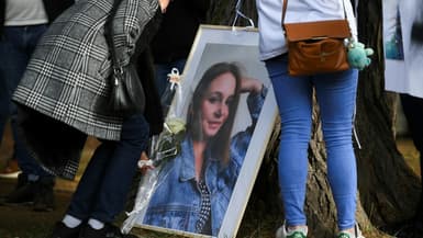
[[[105,39],[109,45],[113,71],[109,77],[110,93],[108,107],[115,114],[123,117],[143,113],[145,107],[145,93],[135,68],[135,61],[123,65],[124,60],[119,59],[115,43],[113,39],[113,18],[118,11],[121,0],[115,0],[113,9],[105,23]]]

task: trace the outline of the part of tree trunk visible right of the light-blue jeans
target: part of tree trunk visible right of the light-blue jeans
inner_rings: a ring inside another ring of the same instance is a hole
[[[421,191],[420,179],[396,146],[393,125],[398,95],[383,90],[381,11],[381,0],[359,3],[359,36],[376,54],[371,68],[361,73],[358,87],[356,125],[363,145],[363,149],[357,150],[358,182],[361,204],[375,226],[413,216]]]

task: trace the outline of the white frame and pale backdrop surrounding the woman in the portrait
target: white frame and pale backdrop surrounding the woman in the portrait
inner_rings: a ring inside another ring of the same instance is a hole
[[[182,97],[175,97],[167,114],[171,116],[182,116],[188,113],[189,102],[204,71],[214,64],[230,61],[244,66],[244,71],[248,77],[259,79],[267,93],[259,110],[259,115],[251,135],[249,144],[246,148],[245,158],[233,186],[232,195],[224,213],[223,220],[218,234],[199,234],[187,230],[172,229],[160,226],[152,226],[145,223],[145,214],[149,204],[149,199],[154,196],[155,189],[148,190],[148,184],[155,183],[155,178],[151,174],[144,175],[140,182],[137,200],[134,211],[125,220],[126,228],[151,229],[160,233],[175,234],[185,237],[236,237],[248,197],[260,168],[265,155],[267,143],[277,118],[277,105],[268,78],[265,64],[258,56],[258,31],[254,27],[234,27],[200,25],[186,67],[181,75],[178,87],[181,89]],[[247,95],[241,95],[231,135],[246,129],[251,124],[251,116],[246,103]],[[183,117],[183,116],[182,116]],[[157,175],[157,174],[156,174]],[[158,184],[159,182],[157,182]],[[146,194],[151,194],[149,196]],[[131,225],[129,225],[131,224]]]

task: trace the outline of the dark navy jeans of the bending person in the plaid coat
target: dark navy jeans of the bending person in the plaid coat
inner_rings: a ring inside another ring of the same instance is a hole
[[[103,140],[79,181],[67,214],[81,220],[112,223],[124,208],[148,134],[144,116],[134,115],[123,123],[120,141]]]

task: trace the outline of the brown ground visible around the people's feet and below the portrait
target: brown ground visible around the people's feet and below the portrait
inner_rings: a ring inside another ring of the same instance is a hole
[[[0,205],[0,238],[46,238],[53,225],[62,219],[65,209],[70,201],[73,192],[76,189],[81,172],[85,169],[88,158],[90,158],[93,148],[97,146],[97,140],[89,138],[84,150],[81,167],[75,181],[57,179],[55,185],[56,208],[53,212],[33,212],[31,206],[22,205]],[[12,140],[10,139],[10,129],[3,138],[0,147],[0,168],[4,166],[7,158],[11,157]],[[419,152],[412,145],[409,138],[399,138],[398,148],[404,155],[409,165],[419,174]],[[13,190],[15,179],[0,179],[0,196],[8,194]],[[278,220],[272,216],[260,216],[258,219],[255,216],[257,211],[246,208],[244,219],[242,220],[237,238],[272,238],[274,231],[279,226]],[[122,214],[120,220],[123,220],[125,215]],[[164,238],[179,237],[165,235],[163,233],[147,231],[143,229],[133,229],[140,238]],[[369,237],[369,236],[368,236]]]

